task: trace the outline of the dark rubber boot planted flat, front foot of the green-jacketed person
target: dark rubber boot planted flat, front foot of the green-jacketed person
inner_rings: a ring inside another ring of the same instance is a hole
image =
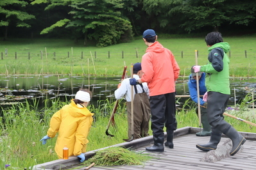
[[[221,134],[212,132],[210,135],[210,141],[207,144],[196,144],[196,148],[202,151],[216,150],[219,141],[221,141]]]

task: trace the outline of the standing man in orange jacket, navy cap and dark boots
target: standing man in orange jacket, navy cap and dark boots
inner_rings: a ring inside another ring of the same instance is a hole
[[[153,29],[144,31],[142,37],[148,46],[141,61],[143,74],[141,79],[130,79],[130,84],[148,83],[154,144],[146,147],[146,150],[164,151],[164,145],[173,148],[173,131],[177,128],[175,81],[180,74],[180,67],[171,50],[157,42]],[[167,132],[166,143],[164,126]]]

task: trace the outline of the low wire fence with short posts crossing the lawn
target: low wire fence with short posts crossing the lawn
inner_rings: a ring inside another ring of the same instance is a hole
[[[192,51],[185,51],[185,50],[173,50],[173,54],[175,55],[175,58],[186,58],[187,56],[194,56],[194,52]],[[205,57],[208,56],[208,53],[203,51],[200,52],[198,50],[198,57]],[[234,50],[228,52],[228,56],[230,58],[232,57],[243,57],[243,58],[255,58],[256,57],[256,50]],[[141,55],[139,55],[138,51],[135,50],[133,52],[62,52],[62,53],[56,53],[56,52],[1,52],[1,59],[44,59],[44,58],[101,58],[101,59],[110,59],[110,58],[141,58]]]

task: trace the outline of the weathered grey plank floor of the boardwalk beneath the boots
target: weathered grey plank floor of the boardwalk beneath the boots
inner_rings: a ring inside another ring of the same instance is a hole
[[[207,153],[196,148],[196,144],[209,142],[210,137],[197,137],[195,134],[187,134],[175,137],[173,149],[165,148],[164,152],[149,152],[153,159],[145,162],[144,166],[113,166],[113,167],[91,167],[90,170],[102,169],[256,169],[256,141],[248,139],[244,143],[243,150],[234,156],[219,160],[218,162],[200,162]],[[222,137],[219,145],[228,138]],[[137,151],[144,151],[145,146],[139,147]],[[79,170],[85,167],[78,168]]]

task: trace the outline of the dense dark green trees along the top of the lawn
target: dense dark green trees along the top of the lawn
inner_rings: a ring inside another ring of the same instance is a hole
[[[255,33],[250,0],[1,0],[0,31],[17,38],[83,38],[98,47],[132,40],[148,28],[158,33],[203,30]]]

